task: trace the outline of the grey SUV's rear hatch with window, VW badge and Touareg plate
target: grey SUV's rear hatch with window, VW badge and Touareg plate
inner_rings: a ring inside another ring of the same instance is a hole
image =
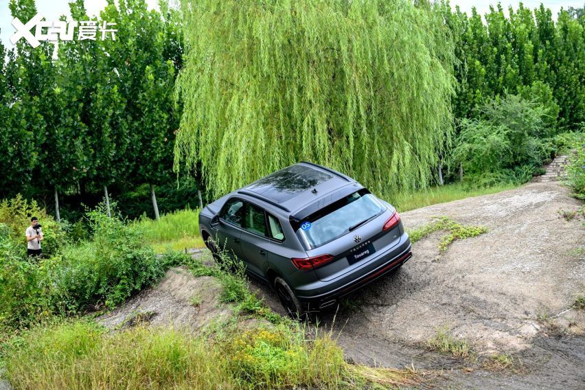
[[[323,282],[341,277],[398,244],[400,223],[382,230],[394,211],[362,189],[299,220],[297,235],[307,255],[333,256],[314,268],[317,277]]]

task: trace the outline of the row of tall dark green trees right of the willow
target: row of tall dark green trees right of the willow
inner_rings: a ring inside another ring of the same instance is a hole
[[[544,107],[551,127],[575,129],[585,118],[584,17],[561,10],[556,21],[540,5],[490,6],[485,15],[472,8],[442,3],[442,14],[455,38],[458,81],[455,117],[477,118],[485,99],[518,93]],[[485,20],[485,23],[483,20]]]

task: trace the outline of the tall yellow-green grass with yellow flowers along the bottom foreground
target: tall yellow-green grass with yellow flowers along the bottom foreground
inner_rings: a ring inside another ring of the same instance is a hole
[[[284,325],[210,339],[63,321],[21,332],[3,352],[5,376],[19,389],[371,389],[422,378],[414,369],[350,365],[330,332],[307,339]]]

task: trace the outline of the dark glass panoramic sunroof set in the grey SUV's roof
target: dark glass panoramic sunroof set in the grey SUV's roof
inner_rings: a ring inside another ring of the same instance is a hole
[[[292,165],[284,168],[248,186],[257,194],[262,194],[277,203],[286,202],[299,192],[312,188],[323,181],[328,181],[332,176],[315,170],[308,166]]]

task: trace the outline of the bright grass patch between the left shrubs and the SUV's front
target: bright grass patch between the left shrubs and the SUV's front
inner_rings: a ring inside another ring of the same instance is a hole
[[[157,253],[205,246],[199,234],[199,209],[174,211],[161,216],[159,220],[146,218],[135,223],[143,231],[146,242]]]

